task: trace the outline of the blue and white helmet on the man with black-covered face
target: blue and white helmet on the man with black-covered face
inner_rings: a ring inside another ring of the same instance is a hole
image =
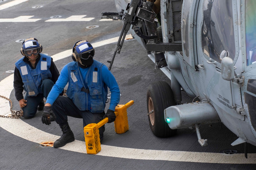
[[[84,41],[78,41],[73,46],[73,54],[71,55],[73,61],[79,61],[82,65],[86,63],[85,60],[88,60],[89,57],[93,57],[95,50],[92,47],[92,45],[84,40]]]

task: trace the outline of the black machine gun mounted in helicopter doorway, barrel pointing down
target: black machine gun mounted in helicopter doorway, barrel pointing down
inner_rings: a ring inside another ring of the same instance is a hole
[[[157,38],[157,35],[144,35],[140,32],[140,28],[142,27],[143,20],[154,22],[156,14],[152,12],[154,3],[148,2],[146,0],[132,0],[128,3],[126,7],[126,11],[122,9],[121,12],[102,12],[102,19],[113,19],[113,20],[123,20],[123,28],[121,34],[119,36],[117,45],[114,50],[114,55],[111,61],[107,61],[110,63],[109,70],[111,70],[112,64],[115,59],[116,53],[120,54],[122,49],[122,45],[125,39],[127,32],[130,30],[131,25],[133,25],[133,30],[135,33],[146,40],[154,40]]]

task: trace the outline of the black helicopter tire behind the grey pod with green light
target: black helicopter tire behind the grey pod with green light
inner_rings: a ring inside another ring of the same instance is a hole
[[[170,137],[177,129],[169,128],[164,120],[164,109],[174,106],[174,95],[170,85],[164,81],[153,82],[147,89],[147,111],[151,131],[157,137]]]

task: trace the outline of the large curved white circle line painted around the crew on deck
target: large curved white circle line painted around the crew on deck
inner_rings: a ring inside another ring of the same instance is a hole
[[[116,40],[116,41],[115,41]],[[118,37],[113,38],[112,42],[109,40],[94,43],[94,47],[106,45],[109,43],[117,42]],[[98,45],[97,45],[98,44]],[[93,44],[92,44],[93,45]],[[68,50],[67,50],[68,51]],[[64,51],[65,52],[65,51]],[[71,50],[72,52],[72,50]],[[70,56],[71,53],[68,54]],[[62,59],[62,53],[58,53],[55,56],[55,61]],[[67,55],[67,54],[66,54]],[[66,56],[66,57],[68,57]],[[1,95],[10,96],[13,90],[13,76],[14,74],[6,77],[0,82]],[[1,114],[10,113],[9,101],[0,98]],[[39,130],[21,119],[7,119],[0,117],[0,126],[8,132],[24,138],[26,140],[40,143],[43,141],[55,141],[59,136],[46,133]],[[15,128],[16,127],[16,128]],[[115,133],[115,132],[113,132]],[[86,153],[86,145],[84,141],[75,140],[68,143],[61,149]],[[248,159],[244,157],[244,154],[234,154],[233,156],[225,156],[220,153],[208,153],[208,152],[187,152],[187,151],[166,151],[166,150],[149,150],[149,149],[133,149],[124,147],[115,147],[108,145],[101,145],[101,151],[97,154],[101,156],[110,156],[116,158],[126,159],[141,159],[141,160],[165,160],[165,161],[182,161],[182,162],[202,162],[202,163],[228,163],[228,164],[255,164],[256,154],[249,153]]]

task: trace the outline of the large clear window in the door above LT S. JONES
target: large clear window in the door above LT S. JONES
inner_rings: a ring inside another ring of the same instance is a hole
[[[227,50],[234,60],[236,54],[231,0],[205,0],[203,5],[202,50],[211,59],[221,62]]]

